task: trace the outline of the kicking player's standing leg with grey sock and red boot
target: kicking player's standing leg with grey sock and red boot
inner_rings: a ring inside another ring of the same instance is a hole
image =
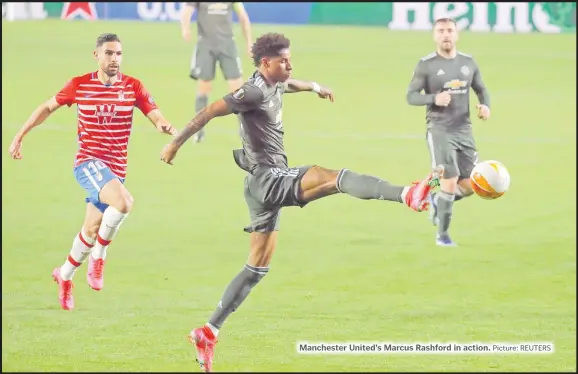
[[[247,263],[225,289],[208,323],[188,335],[189,341],[196,347],[197,362],[205,372],[212,371],[219,329],[269,272],[269,263],[277,245],[277,232],[252,232],[250,241],[251,251]]]

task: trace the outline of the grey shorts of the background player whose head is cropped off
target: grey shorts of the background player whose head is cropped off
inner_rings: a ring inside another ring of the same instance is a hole
[[[211,45],[206,40],[199,40],[191,59],[190,77],[212,81],[215,79],[217,61],[226,80],[238,79],[243,76],[237,45],[235,40],[231,39],[221,42],[218,46]]]

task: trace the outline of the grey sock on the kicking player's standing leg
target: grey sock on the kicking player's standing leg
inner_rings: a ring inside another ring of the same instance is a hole
[[[237,310],[239,305],[249,296],[251,289],[267,275],[268,271],[269,267],[254,267],[245,264],[243,270],[233,278],[225,289],[225,293],[209,319],[209,323],[220,329],[229,315]]]

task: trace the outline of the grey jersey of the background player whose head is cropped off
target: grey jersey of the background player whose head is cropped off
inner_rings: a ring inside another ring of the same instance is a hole
[[[187,3],[197,10],[197,35],[212,43],[233,38],[233,3]]]

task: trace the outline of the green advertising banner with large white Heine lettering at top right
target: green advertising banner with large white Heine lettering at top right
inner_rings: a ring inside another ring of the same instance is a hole
[[[443,17],[477,32],[576,32],[576,3],[313,3],[310,23],[431,30]]]

